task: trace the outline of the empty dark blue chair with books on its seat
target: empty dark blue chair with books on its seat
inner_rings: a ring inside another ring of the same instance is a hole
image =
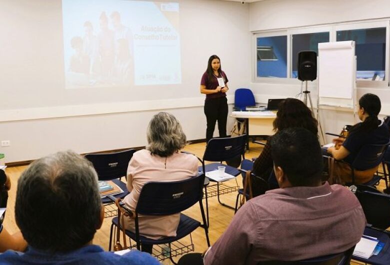
[[[127,179],[127,166],[135,149],[129,149],[119,152],[110,153],[88,153],[85,158],[92,162],[93,167],[97,172],[98,180],[112,180],[123,192],[115,194],[116,198],[123,198],[128,194],[126,183],[120,181],[119,178],[124,176]],[[107,206],[112,204],[112,201],[106,197],[101,199],[101,202]],[[116,215],[116,209],[106,207],[105,217]]]

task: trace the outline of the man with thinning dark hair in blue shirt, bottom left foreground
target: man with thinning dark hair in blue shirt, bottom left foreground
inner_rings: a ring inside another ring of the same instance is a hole
[[[92,164],[72,151],[40,158],[21,174],[15,218],[28,250],[8,250],[0,264],[160,264],[144,252],[120,256],[92,244],[104,207]]]

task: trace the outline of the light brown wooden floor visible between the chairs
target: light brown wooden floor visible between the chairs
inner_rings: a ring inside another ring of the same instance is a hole
[[[205,143],[195,143],[187,145],[184,150],[189,151],[197,155],[198,157],[202,157],[204,152]],[[250,151],[245,153],[245,158],[251,159],[252,157],[256,157],[259,155],[262,150],[262,145],[256,143],[250,143]],[[199,164],[200,165],[200,164]],[[8,205],[7,205],[7,213],[4,220],[4,227],[10,232],[15,232],[18,230],[17,225],[14,220],[14,205],[15,205],[15,195],[16,195],[16,184],[17,179],[19,178],[22,171],[26,168],[26,166],[15,166],[6,168],[7,175],[11,178],[11,189],[8,193]],[[242,179],[240,176],[236,178],[236,180],[232,179],[226,182],[228,185],[235,185],[238,183],[242,187]],[[378,189],[382,190],[384,188],[384,183],[380,183]],[[232,192],[228,194],[224,194],[221,196],[221,200],[226,204],[234,206],[235,198],[237,193]],[[220,205],[217,201],[216,197],[209,198],[208,200],[209,207],[209,218],[210,218],[210,227],[209,227],[209,238],[210,243],[213,244],[219,236],[226,229],[227,225],[230,223],[234,211],[227,207]],[[204,203],[203,203],[204,204]],[[184,211],[185,214],[197,219],[201,220],[200,210],[198,204],[193,205],[191,208]],[[111,218],[105,218],[101,229],[99,229],[93,239],[93,243],[101,245],[104,249],[108,250],[108,241],[109,241],[109,229],[111,225]],[[196,252],[202,252],[207,248],[204,230],[202,228],[197,228],[192,233],[192,240],[194,243],[194,250]],[[184,242],[188,242],[189,238],[184,238]],[[164,260],[164,264],[169,264],[168,260]],[[353,263],[355,264],[355,263]]]

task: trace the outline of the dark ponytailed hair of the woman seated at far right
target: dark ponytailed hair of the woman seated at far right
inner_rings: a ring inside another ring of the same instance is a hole
[[[381,104],[377,95],[371,93],[362,95],[359,99],[359,107],[364,109],[364,112],[368,114],[368,117],[366,117],[363,122],[353,125],[349,130],[349,134],[357,131],[368,133],[377,128],[380,123],[378,114]]]

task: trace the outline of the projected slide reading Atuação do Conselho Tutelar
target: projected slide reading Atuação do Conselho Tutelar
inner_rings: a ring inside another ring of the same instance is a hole
[[[66,88],[181,82],[179,4],[62,0]]]

